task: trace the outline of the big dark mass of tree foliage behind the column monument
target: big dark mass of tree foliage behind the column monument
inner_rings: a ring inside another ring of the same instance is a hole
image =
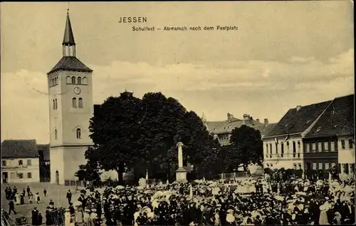
[[[171,178],[177,169],[177,143],[184,143],[184,165],[197,172],[214,173],[220,149],[201,119],[174,98],[162,93],[133,93],[108,98],[90,120],[94,149],[86,158],[104,170],[117,170],[119,181],[125,170],[136,177]],[[94,157],[90,157],[93,155]]]

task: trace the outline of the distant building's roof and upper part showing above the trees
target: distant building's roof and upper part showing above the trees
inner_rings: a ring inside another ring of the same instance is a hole
[[[208,121],[203,114],[201,120],[209,133],[214,135],[214,138],[219,139],[219,143],[221,145],[229,145],[232,130],[234,130],[234,128],[240,128],[241,125],[247,125],[251,128],[259,130],[262,136],[268,133],[268,131],[275,125],[273,123],[268,123],[267,118],[264,119],[263,123],[261,123],[258,118],[253,120],[251,115],[248,114],[244,114],[243,119],[239,119],[234,118],[234,115],[228,113],[227,120],[223,121]]]

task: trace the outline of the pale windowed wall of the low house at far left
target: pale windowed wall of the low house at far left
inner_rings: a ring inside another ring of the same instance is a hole
[[[1,160],[6,160],[6,166],[1,165],[1,176],[3,173],[8,173],[8,183],[40,182],[40,168],[38,158],[16,158]],[[23,165],[19,165],[19,160],[22,160]],[[31,160],[31,165],[28,165],[27,160]],[[18,174],[20,173],[23,174],[23,178],[19,178]],[[28,178],[28,173],[31,173],[31,178]]]

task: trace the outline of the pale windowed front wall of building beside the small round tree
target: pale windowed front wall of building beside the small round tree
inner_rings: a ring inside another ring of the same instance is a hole
[[[277,137],[278,144],[276,147],[274,138],[263,138],[263,166],[271,168],[272,165],[273,168],[278,164],[281,168],[294,168],[296,166],[297,169],[304,170],[303,140],[301,136],[290,136],[286,143],[283,143],[285,139],[286,135]],[[293,143],[295,143],[295,153],[293,153]],[[282,146],[283,156],[281,155]]]

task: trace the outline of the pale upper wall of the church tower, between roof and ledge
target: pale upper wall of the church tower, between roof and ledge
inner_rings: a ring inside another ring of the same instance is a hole
[[[67,77],[85,77],[86,83],[67,83]],[[49,77],[57,77],[60,81],[57,86],[49,88],[50,106],[50,134],[51,146],[85,144],[91,145],[89,138],[89,120],[93,117],[93,82],[91,73],[61,71]],[[76,95],[73,92],[75,87],[79,87],[81,92]],[[53,98],[57,99],[57,109],[53,110]],[[72,106],[72,98],[77,98],[77,108]],[[83,98],[83,108],[78,108],[78,98]],[[76,138],[76,129],[81,129],[81,138]],[[55,138],[57,130],[57,139]]]

